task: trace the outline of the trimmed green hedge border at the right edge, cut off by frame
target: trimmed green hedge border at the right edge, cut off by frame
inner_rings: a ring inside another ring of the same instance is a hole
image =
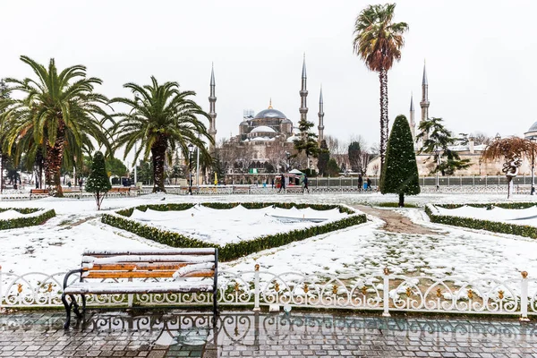
[[[532,206],[537,205],[536,203],[502,203],[504,206],[500,206],[500,204],[466,204],[467,206],[472,206],[475,208],[487,208],[490,206],[497,206],[499,208],[504,209],[525,209],[530,208]],[[522,205],[521,205],[522,204]],[[531,205],[530,205],[531,204]],[[456,209],[461,208],[465,205],[459,205],[459,204],[444,204],[444,205],[435,205],[440,208],[445,209]],[[462,226],[462,227],[468,227],[471,229],[476,230],[487,230],[492,231],[494,233],[499,234],[516,234],[520,236],[525,237],[531,237],[533,239],[537,238],[537,227],[535,226],[527,226],[527,225],[515,225],[515,224],[507,224],[507,223],[501,223],[498,221],[490,221],[490,220],[482,220],[472,217],[453,217],[449,215],[438,215],[434,214],[433,210],[435,210],[435,206],[431,204],[427,204],[425,206],[425,213],[430,217],[430,221],[437,224],[445,224],[445,225],[451,225],[451,226]]]

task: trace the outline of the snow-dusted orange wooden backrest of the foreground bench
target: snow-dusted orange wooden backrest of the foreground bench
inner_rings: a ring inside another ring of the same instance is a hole
[[[81,278],[215,277],[217,249],[87,250]]]

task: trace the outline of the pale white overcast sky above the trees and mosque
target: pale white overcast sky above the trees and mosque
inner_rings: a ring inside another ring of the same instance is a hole
[[[355,17],[371,1],[2,1],[0,78],[30,76],[20,55],[64,68],[84,64],[110,98],[127,81],[155,75],[194,90],[209,110],[217,82],[217,139],[237,134],[243,109],[268,107],[297,124],[303,53],[308,119],[346,141],[379,141],[379,79],[353,54]],[[390,124],[408,115],[414,94],[420,118],[427,61],[430,116],[455,132],[522,135],[537,120],[535,1],[400,1],[406,21],[400,63],[388,72]]]

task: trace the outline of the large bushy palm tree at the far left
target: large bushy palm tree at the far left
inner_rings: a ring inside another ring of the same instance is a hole
[[[58,72],[54,58],[48,67],[24,55],[21,61],[30,65],[38,78],[5,80],[12,84],[12,91],[24,96],[12,99],[4,113],[8,127],[4,149],[11,154],[15,142],[24,143],[19,146],[21,150],[35,149],[36,155],[40,149],[45,158],[47,185],[53,187],[53,194],[63,196],[60,170],[64,161],[81,158],[82,150],[93,146],[92,139],[110,149],[103,127],[108,116],[101,107],[108,100],[94,92],[95,85],[102,81],[87,78],[86,67],[81,64]],[[64,158],[66,151],[70,155]]]

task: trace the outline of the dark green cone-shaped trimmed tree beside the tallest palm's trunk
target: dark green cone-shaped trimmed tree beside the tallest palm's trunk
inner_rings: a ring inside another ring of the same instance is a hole
[[[380,176],[380,192],[399,194],[400,207],[405,206],[405,194],[420,193],[412,133],[405,115],[397,115],[389,136],[386,164]]]

